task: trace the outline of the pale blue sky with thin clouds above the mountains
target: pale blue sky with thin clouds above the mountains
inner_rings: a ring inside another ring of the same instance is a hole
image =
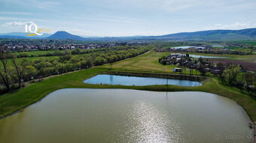
[[[50,33],[162,35],[256,27],[255,0],[0,0],[0,33],[34,22]]]

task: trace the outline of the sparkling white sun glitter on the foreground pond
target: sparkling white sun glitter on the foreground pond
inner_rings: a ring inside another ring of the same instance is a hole
[[[137,136],[135,142],[173,142],[173,135],[169,135],[168,128],[166,129],[166,121],[169,121],[166,114],[152,103],[136,102],[130,115],[133,121],[138,123],[136,129],[130,129],[130,133],[134,135],[128,133],[130,137]],[[172,121],[169,122],[172,123]]]

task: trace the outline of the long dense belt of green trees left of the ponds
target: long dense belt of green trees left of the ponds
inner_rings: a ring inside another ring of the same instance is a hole
[[[128,50],[109,49],[87,55],[68,53],[57,58],[37,58],[33,61],[29,61],[28,58],[17,58],[14,53],[1,50],[0,84],[4,85],[5,91],[10,91],[12,88],[20,88],[22,82],[120,61],[140,55],[149,49],[151,48],[142,46]]]

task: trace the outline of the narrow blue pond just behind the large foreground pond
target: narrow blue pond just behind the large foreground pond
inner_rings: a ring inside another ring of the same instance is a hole
[[[90,79],[86,79],[84,83],[106,85],[166,85],[167,79],[99,74],[97,76],[93,76]],[[202,83],[190,80],[168,79],[168,85],[199,86],[202,85]]]

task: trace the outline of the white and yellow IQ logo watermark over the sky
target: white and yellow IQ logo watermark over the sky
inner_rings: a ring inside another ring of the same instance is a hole
[[[29,36],[35,36],[36,34],[41,36],[45,31],[50,31],[50,28],[38,28],[38,25],[35,23],[30,23],[25,25],[25,31]]]

